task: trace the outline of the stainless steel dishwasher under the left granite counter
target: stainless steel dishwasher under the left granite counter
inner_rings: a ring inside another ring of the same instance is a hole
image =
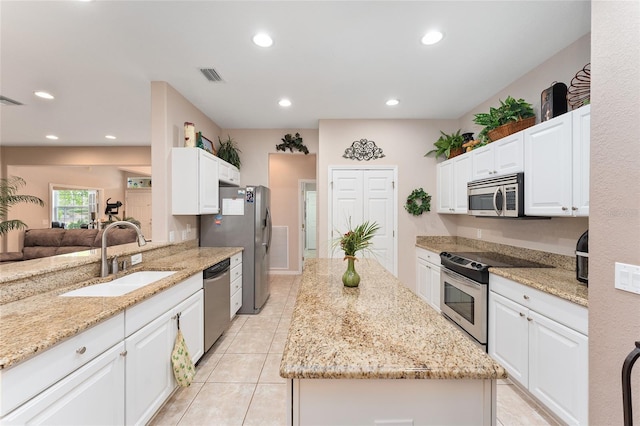
[[[204,286],[204,351],[222,335],[229,326],[230,316],[230,259],[207,268],[203,272]]]

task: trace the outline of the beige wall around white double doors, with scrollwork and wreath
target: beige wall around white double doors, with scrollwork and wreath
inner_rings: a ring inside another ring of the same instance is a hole
[[[328,229],[329,166],[354,167],[391,165],[398,167],[398,278],[415,287],[415,241],[417,235],[455,234],[448,229],[450,218],[435,213],[436,160],[424,157],[440,134],[456,131],[456,120],[320,120],[318,155],[318,256],[331,252]],[[371,161],[343,158],[353,141],[372,140],[382,148],[385,157]],[[432,196],[432,211],[412,216],[404,210],[407,196],[422,187]]]

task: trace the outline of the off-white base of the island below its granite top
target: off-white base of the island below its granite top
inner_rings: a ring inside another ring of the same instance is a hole
[[[304,425],[495,425],[495,380],[292,379],[288,420]]]

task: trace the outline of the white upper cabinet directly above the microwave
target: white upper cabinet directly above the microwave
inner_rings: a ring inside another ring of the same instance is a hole
[[[524,170],[524,131],[471,151],[471,180],[485,179]]]

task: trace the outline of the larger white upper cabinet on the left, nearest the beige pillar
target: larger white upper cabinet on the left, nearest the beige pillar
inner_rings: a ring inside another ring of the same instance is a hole
[[[218,206],[218,158],[199,148],[171,150],[171,213],[215,214]]]

